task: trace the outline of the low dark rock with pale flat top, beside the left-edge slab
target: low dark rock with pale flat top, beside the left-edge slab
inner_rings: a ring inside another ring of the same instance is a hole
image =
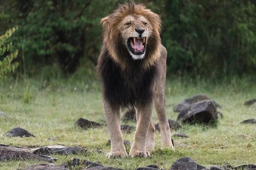
[[[65,148],[48,148],[42,147],[35,150],[34,154],[43,154],[43,155],[51,155],[51,154],[59,154],[59,155],[69,155],[69,154],[79,154],[88,152],[85,148],[81,147],[65,147]]]

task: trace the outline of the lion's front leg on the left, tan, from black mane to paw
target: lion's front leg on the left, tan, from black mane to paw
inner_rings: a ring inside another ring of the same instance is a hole
[[[107,154],[107,157],[127,157],[128,155],[125,150],[124,140],[120,130],[120,108],[111,106],[107,101],[103,101],[103,106],[111,140],[111,151]]]

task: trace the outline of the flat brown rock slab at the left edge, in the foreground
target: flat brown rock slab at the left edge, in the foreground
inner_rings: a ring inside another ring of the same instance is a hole
[[[46,162],[53,162],[57,160],[57,158],[53,158],[51,156],[45,155],[35,155],[31,152],[26,152],[22,148],[15,147],[2,147],[0,146],[0,160],[25,160],[25,159],[38,159]]]

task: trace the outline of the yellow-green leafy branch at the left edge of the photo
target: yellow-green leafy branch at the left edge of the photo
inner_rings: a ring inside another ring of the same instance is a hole
[[[12,51],[12,43],[9,42],[15,30],[17,27],[7,30],[5,34],[0,36],[0,82],[6,79],[8,73],[18,67],[18,63],[13,62],[18,55],[18,50]]]

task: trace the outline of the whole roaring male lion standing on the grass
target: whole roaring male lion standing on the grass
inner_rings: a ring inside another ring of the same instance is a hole
[[[120,130],[120,112],[135,108],[137,130],[129,155],[148,157],[154,150],[155,103],[162,147],[173,148],[165,114],[166,48],[161,45],[159,15],[133,2],[102,18],[103,43],[97,72],[111,140],[109,158],[128,156]]]

